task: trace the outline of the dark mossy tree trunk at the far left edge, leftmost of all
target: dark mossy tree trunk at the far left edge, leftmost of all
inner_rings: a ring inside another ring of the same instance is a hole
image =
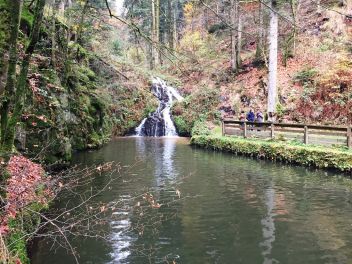
[[[9,64],[7,68],[7,80],[5,85],[5,91],[2,99],[2,105],[0,109],[0,118],[1,118],[1,143],[4,142],[4,135],[7,129],[8,116],[10,111],[10,105],[12,103],[13,94],[15,92],[16,85],[16,66],[18,60],[17,52],[17,41],[18,41],[18,32],[21,20],[21,12],[23,0],[10,0],[8,1],[10,5],[11,12],[11,31],[9,39]]]

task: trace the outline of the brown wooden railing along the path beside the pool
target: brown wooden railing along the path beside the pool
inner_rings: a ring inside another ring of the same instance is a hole
[[[293,123],[222,121],[222,135],[258,138],[295,139],[304,144],[344,145],[352,149],[351,126],[321,126]]]

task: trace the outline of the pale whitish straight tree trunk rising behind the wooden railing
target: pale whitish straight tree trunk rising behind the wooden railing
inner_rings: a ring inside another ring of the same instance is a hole
[[[277,50],[278,50],[278,15],[277,2],[271,0],[269,27],[269,85],[268,85],[268,114],[274,117],[277,97]]]

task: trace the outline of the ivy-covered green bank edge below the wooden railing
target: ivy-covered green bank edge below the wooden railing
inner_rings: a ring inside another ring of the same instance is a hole
[[[343,149],[223,136],[193,136],[191,144],[258,159],[352,173],[352,152]]]

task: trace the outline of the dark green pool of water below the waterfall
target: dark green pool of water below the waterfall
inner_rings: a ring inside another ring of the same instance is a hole
[[[72,239],[80,263],[352,263],[352,195],[342,176],[172,138],[121,138],[76,157],[86,165],[106,161],[134,166],[95,198],[123,204],[95,227],[107,240]],[[136,204],[146,191],[162,206],[141,214]],[[32,263],[74,263],[51,245],[37,242]]]

